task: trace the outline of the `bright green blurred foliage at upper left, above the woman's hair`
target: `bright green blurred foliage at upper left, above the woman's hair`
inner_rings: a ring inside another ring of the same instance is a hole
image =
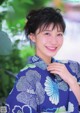
[[[0,15],[4,15],[9,30],[15,35],[21,32],[26,22],[26,15],[32,9],[46,6],[52,0],[3,0],[2,7],[5,8]]]

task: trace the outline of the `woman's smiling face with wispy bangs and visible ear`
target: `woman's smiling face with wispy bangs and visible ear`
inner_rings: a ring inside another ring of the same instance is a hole
[[[53,24],[43,30],[37,29],[30,37],[35,43],[36,55],[41,58],[55,56],[63,44],[63,32],[59,26],[53,28]]]

